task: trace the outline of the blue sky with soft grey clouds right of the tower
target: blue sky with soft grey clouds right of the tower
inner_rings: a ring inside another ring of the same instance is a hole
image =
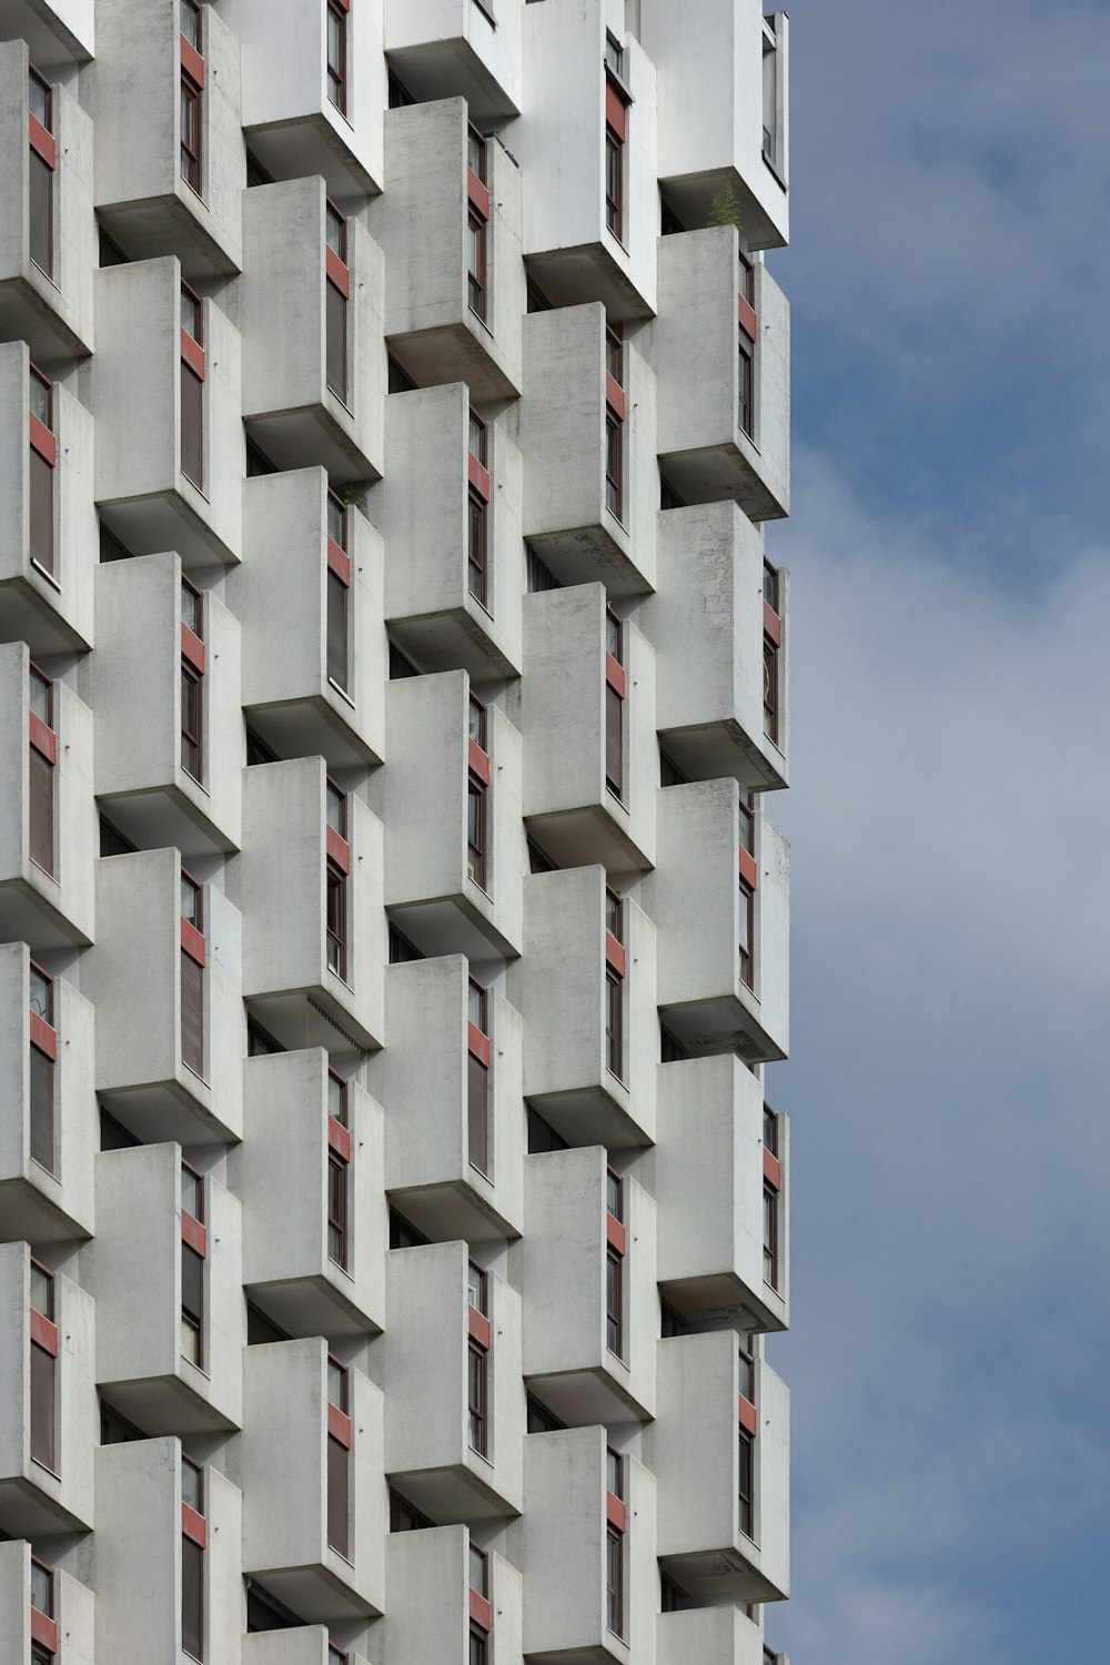
[[[1110,3],[794,0],[794,1665],[1105,1665]]]

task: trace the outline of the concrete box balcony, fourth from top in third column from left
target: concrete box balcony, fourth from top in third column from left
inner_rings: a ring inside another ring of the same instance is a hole
[[[341,821],[343,831],[336,828]],[[381,1046],[383,826],[323,758],[243,771],[243,996],[281,1046]]]

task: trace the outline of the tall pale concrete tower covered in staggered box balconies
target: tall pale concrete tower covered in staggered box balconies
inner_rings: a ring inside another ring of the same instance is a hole
[[[784,1665],[789,23],[0,0],[0,1665]]]

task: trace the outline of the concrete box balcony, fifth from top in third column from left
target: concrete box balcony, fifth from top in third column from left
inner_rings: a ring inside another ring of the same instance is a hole
[[[320,1049],[248,1057],[243,1097],[251,1302],[291,1335],[364,1339],[384,1322],[381,1106]]]

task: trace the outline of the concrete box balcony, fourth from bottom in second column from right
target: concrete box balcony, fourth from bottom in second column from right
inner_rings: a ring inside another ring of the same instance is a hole
[[[612,653],[616,648],[616,653]],[[562,867],[656,859],[656,651],[601,584],[524,598],[521,731],[529,836]]]

